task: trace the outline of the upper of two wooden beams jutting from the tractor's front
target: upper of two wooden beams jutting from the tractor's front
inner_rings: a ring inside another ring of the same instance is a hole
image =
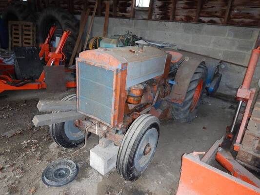
[[[76,103],[76,101],[40,100],[37,108],[40,112],[71,111],[77,110]]]

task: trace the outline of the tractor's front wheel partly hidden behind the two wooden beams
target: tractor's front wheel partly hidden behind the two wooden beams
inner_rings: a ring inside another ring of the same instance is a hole
[[[61,101],[76,100],[76,94],[66,96]],[[59,111],[54,111],[59,112]],[[74,125],[74,121],[55,123],[49,126],[53,140],[64,148],[75,148],[85,140],[85,132]]]

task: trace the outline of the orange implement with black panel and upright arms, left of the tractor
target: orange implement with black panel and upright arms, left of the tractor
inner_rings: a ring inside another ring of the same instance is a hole
[[[48,88],[58,86],[62,89],[76,87],[73,69],[64,69],[63,65],[66,56],[62,50],[71,32],[64,31],[55,48],[51,39],[56,29],[55,26],[50,28],[44,43],[40,44],[40,52],[36,47],[14,47],[14,54],[8,54],[8,58],[15,59],[13,64],[5,64],[0,60],[0,93],[5,90],[42,89],[47,85]],[[65,78],[65,72],[67,80],[62,79]]]

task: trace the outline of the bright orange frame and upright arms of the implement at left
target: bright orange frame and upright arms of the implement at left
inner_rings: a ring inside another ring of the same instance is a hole
[[[64,61],[65,59],[65,55],[62,52],[62,49],[65,45],[65,42],[68,38],[68,36],[70,35],[70,31],[64,31],[62,34],[62,37],[60,38],[60,42],[58,47],[56,48],[55,52],[49,52],[49,50],[46,50],[46,45],[48,45],[47,43],[50,41],[51,35],[53,35],[54,30],[56,28],[55,27],[51,27],[50,32],[48,37],[46,38],[44,44],[41,47],[41,52],[39,54],[39,56],[43,56],[43,54],[45,54],[45,59],[46,59],[46,54],[48,53],[48,62],[46,64],[46,66],[52,66],[53,64],[58,66],[60,65],[60,62]],[[47,47],[48,48],[48,47]],[[0,93],[5,91],[5,90],[26,90],[26,89],[42,89],[42,88],[46,88],[46,83],[44,81],[45,79],[45,73],[44,71],[42,71],[40,78],[36,79],[35,82],[31,82],[31,83],[27,83],[25,85],[22,85],[20,87],[16,87],[16,86],[12,86],[6,83],[6,81],[12,81],[12,82],[19,82],[20,80],[14,80],[8,76],[1,76],[0,78]],[[76,81],[69,81],[66,83],[66,87],[70,88],[70,87],[76,87]]]

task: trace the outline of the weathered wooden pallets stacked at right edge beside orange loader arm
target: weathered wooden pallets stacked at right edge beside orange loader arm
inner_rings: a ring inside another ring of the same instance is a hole
[[[254,105],[236,160],[260,172],[260,95]]]

